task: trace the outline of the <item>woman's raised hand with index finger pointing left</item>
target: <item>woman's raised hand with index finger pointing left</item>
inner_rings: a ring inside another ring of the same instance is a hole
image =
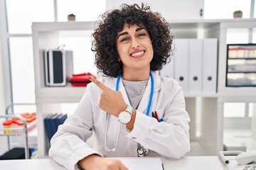
[[[116,117],[120,112],[125,111],[127,104],[124,102],[124,98],[120,91],[113,91],[94,77],[90,77],[90,81],[102,89],[99,106],[103,111],[106,111]]]

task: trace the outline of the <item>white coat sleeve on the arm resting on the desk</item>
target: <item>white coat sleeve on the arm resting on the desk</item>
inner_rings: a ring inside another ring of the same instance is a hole
[[[87,91],[90,90],[86,90],[73,115],[68,116],[50,140],[49,156],[66,169],[75,169],[78,162],[90,154],[102,156],[86,144],[93,128],[92,104]]]

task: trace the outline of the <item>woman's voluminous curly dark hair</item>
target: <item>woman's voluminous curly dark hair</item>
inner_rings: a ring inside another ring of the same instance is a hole
[[[92,51],[95,52],[95,65],[106,76],[117,77],[123,72],[122,62],[119,62],[116,38],[122,31],[124,23],[144,26],[151,38],[154,56],[150,63],[152,71],[162,69],[171,55],[173,36],[169,23],[159,13],[150,10],[150,6],[142,3],[122,4],[120,9],[107,11],[96,22],[92,33]]]

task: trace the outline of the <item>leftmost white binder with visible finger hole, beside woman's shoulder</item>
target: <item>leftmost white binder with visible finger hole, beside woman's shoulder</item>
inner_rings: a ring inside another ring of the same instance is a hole
[[[174,39],[174,78],[183,89],[183,93],[188,93],[188,39]]]

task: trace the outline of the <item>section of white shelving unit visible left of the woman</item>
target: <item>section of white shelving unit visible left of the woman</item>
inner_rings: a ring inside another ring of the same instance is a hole
[[[33,58],[36,85],[36,110],[38,118],[38,154],[48,153],[43,118],[49,113],[60,113],[61,103],[78,103],[85,87],[48,87],[45,84],[43,51],[62,45],[61,38],[81,38],[90,35],[94,22],[33,23]],[[89,47],[90,50],[90,47]],[[74,54],[75,55],[75,54]]]

